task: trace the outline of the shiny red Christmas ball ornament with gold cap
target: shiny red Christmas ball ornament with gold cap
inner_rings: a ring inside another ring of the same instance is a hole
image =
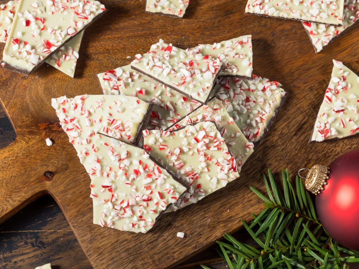
[[[308,172],[306,187],[317,194],[320,222],[340,244],[359,251],[359,150],[335,159],[327,174],[327,167],[316,166]]]

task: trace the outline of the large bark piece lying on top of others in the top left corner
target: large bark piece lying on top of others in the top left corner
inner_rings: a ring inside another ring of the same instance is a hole
[[[94,0],[20,0],[1,66],[29,75],[104,11]]]

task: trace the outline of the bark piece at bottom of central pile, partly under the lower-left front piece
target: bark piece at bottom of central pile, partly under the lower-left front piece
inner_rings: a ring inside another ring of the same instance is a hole
[[[199,122],[174,132],[143,133],[144,149],[191,186],[171,210],[196,203],[239,177],[236,160],[213,122]]]

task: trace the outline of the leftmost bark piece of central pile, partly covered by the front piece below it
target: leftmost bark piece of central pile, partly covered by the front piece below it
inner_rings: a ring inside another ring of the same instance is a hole
[[[122,95],[62,96],[51,102],[81,163],[94,150],[96,132],[136,144],[153,107],[136,97]]]

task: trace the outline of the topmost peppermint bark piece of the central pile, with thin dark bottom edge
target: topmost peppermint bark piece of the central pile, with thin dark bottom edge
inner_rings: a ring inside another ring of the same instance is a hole
[[[222,68],[219,58],[186,51],[162,39],[144,55],[137,54],[131,68],[169,88],[205,104]]]

